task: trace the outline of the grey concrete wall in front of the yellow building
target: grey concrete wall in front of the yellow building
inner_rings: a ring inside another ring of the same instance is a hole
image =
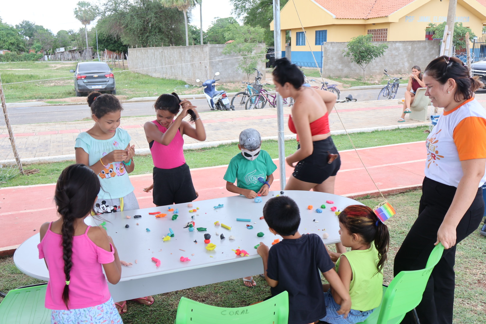
[[[381,43],[381,42],[377,42]],[[384,42],[388,44],[388,49],[382,57],[372,61],[367,67],[365,74],[382,74],[383,69],[388,69],[388,74],[407,73],[412,70],[414,65],[418,65],[422,70],[439,55],[440,41],[438,40],[418,40]],[[363,75],[363,70],[351,62],[348,57],[344,57],[347,43],[327,42],[324,44],[323,53],[323,75],[327,77],[343,77]],[[294,55],[292,54],[294,57]]]

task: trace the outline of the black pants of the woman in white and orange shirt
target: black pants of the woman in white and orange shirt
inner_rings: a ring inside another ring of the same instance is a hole
[[[394,275],[404,270],[425,268],[437,240],[437,231],[451,206],[456,189],[427,177],[424,179],[418,217],[395,256]],[[484,209],[483,191],[480,187],[468,211],[457,225],[456,245],[444,250],[427,282],[422,301],[416,308],[420,324],[452,323],[456,246],[478,228]],[[405,316],[403,323],[415,323],[411,312]]]

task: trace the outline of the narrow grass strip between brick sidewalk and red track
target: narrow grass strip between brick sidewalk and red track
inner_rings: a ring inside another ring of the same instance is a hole
[[[375,131],[371,133],[353,133],[349,136],[356,148],[363,148],[425,140],[427,134],[424,134],[424,130],[428,129],[428,126],[425,126],[395,129],[391,131]],[[332,138],[339,151],[350,150],[353,148],[347,135],[337,135],[332,136]],[[264,141],[262,143],[262,148],[266,150],[272,158],[278,158],[278,142],[276,140]],[[295,140],[285,141],[286,156],[294,153],[295,150]],[[201,152],[204,152],[205,154],[201,154]],[[237,152],[237,144],[233,143],[212,148],[186,150],[184,155],[190,168],[202,168],[226,165]],[[151,155],[139,155],[135,158],[135,162],[137,166],[131,174],[152,173],[154,165]],[[25,169],[39,169],[40,172],[31,175],[17,175],[6,181],[1,181],[0,187],[54,183],[61,171],[70,164],[72,164],[72,161],[25,165]]]

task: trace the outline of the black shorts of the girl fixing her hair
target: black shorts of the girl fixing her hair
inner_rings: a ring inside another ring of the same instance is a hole
[[[186,163],[173,169],[154,167],[153,179],[152,197],[155,205],[190,203],[197,198],[192,185],[191,171]]]

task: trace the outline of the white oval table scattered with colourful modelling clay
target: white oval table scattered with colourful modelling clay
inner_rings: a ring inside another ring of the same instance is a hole
[[[232,196],[197,201],[192,203],[193,207],[188,207],[188,204],[171,205],[171,208],[179,211],[176,220],[172,220],[174,212],[168,211],[168,206],[101,215],[107,221],[104,226],[118,249],[120,259],[133,263],[131,267],[122,266],[121,280],[117,285],[108,284],[113,299],[128,300],[263,273],[261,258],[254,246],[260,241],[271,246],[274,239],[281,239],[268,230],[264,220],[260,220],[265,202],[278,194],[279,191],[271,191],[268,196],[261,197],[261,203],[255,203],[253,199],[244,196]],[[348,205],[362,205],[350,198],[322,192],[287,190],[284,195],[294,199],[299,206],[299,233],[315,233],[322,238],[326,232],[329,234],[329,238],[323,239],[326,244],[339,242],[337,216],[330,207],[336,206],[342,210]],[[328,200],[334,204],[327,204]],[[224,207],[214,208],[219,204]],[[323,204],[327,208],[317,213],[315,209]],[[313,205],[313,208],[308,209],[308,205]],[[197,207],[199,209],[196,212],[189,211]],[[155,211],[167,216],[156,218],[155,215],[149,215]],[[134,218],[135,215],[142,217]],[[131,218],[127,219],[126,216]],[[251,221],[240,222],[237,218]],[[206,227],[207,231],[194,229],[190,232],[184,228],[190,221],[195,222],[196,228]],[[214,225],[217,221],[231,226],[231,230]],[[85,222],[88,225],[99,225],[103,221],[87,217]],[[125,228],[126,224],[129,228]],[[247,224],[253,226],[253,229],[247,229]],[[163,241],[169,228],[174,231],[174,237]],[[259,232],[264,233],[262,238],[257,237]],[[216,244],[212,251],[206,249],[206,233],[211,235],[211,243]],[[221,234],[226,239],[220,239]],[[231,235],[235,239],[229,239]],[[44,259],[39,259],[38,243],[39,234],[23,242],[14,254],[14,262],[21,272],[47,281],[49,273]],[[232,250],[238,248],[246,250],[249,256],[237,256]],[[181,262],[181,256],[189,257],[191,261]],[[152,257],[161,261],[159,267],[151,260]]]

